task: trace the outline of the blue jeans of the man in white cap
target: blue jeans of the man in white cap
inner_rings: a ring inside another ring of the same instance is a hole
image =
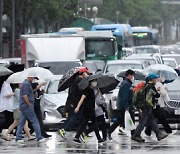
[[[19,118],[19,124],[18,124],[17,132],[16,132],[16,140],[22,139],[22,131],[24,129],[26,120],[29,120],[32,123],[34,131],[36,133],[37,140],[42,139],[40,126],[39,126],[39,122],[36,117],[36,114],[34,112],[34,107],[32,107],[32,106],[24,107],[24,108],[21,108],[20,110],[21,110],[21,115]]]

